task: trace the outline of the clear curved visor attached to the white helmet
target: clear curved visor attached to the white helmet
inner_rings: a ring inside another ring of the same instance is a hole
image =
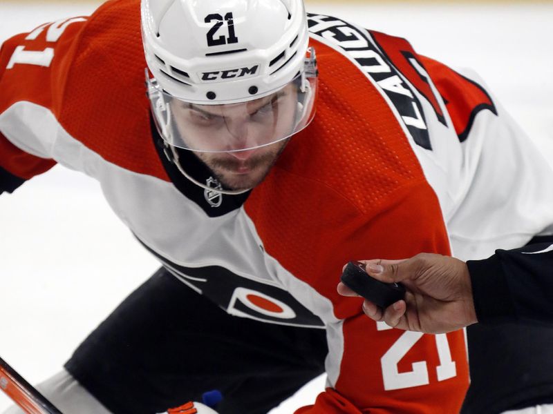
[[[182,101],[148,79],[148,97],[162,138],[171,146],[202,152],[252,150],[299,132],[315,116],[317,76],[300,73],[265,97],[200,105]]]

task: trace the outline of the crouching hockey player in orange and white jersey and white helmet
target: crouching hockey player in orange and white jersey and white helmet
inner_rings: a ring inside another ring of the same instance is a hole
[[[1,190],[86,172],[162,264],[39,390],[65,413],[214,389],[219,413],[266,413],[326,371],[297,413],[456,413],[463,333],[376,324],[335,286],[350,259],[553,223],[524,182],[547,164],[467,76],[301,0],[113,0],[6,41]]]

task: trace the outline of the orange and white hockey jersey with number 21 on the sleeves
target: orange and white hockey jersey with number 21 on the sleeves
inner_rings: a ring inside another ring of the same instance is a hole
[[[157,145],[139,3],[109,1],[3,44],[0,190],[55,163],[82,171],[162,264],[228,313],[326,328],[328,388],[298,413],[458,412],[463,333],[376,324],[337,294],[339,275],[352,259],[476,258],[543,232],[553,189],[527,177],[551,172],[532,144],[476,77],[309,14],[315,121],[250,193],[209,192]],[[209,184],[195,157],[182,164]]]

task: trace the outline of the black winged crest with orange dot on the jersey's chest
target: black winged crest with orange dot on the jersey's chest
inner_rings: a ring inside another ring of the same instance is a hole
[[[136,237],[136,236],[135,236]],[[138,237],[136,237],[138,239]],[[271,324],[299,326],[304,328],[324,328],[321,319],[295,299],[288,290],[279,286],[236,275],[223,266],[201,266],[191,268],[180,266],[138,241],[173,274],[198,293],[223,308],[227,313],[238,317],[248,317]],[[194,240],[190,240],[194,243]],[[253,298],[252,300],[248,298]],[[256,306],[261,300],[266,310]]]

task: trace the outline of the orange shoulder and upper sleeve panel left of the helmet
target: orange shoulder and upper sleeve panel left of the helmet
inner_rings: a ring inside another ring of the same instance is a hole
[[[122,168],[167,180],[153,148],[140,1],[104,3],[6,41],[0,112],[28,101],[48,108],[73,138]]]

